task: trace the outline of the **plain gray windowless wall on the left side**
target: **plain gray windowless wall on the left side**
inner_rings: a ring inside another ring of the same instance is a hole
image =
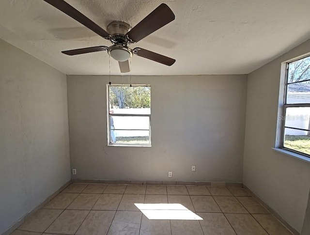
[[[66,76],[0,40],[0,234],[70,180]]]

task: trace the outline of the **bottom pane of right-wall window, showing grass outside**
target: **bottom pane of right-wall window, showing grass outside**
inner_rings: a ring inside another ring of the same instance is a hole
[[[308,131],[285,128],[284,147],[310,154],[310,133]]]

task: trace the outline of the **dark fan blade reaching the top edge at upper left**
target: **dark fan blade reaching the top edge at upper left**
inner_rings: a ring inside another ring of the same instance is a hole
[[[103,38],[107,38],[110,36],[107,31],[102,29],[99,25],[97,25],[91,19],[84,16],[82,13],[80,13],[73,6],[66,3],[64,0],[44,0],[44,1],[56,7],[58,10],[62,11],[64,14],[71,16],[72,18],[77,20],[82,25],[86,26],[90,30],[97,33],[99,36]]]

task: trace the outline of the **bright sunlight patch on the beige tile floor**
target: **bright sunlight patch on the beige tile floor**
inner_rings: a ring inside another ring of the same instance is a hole
[[[201,217],[179,203],[135,203],[135,205],[148,219],[203,220]]]

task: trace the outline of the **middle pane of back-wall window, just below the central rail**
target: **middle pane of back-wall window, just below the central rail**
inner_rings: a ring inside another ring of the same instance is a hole
[[[150,129],[149,116],[110,116],[110,124],[114,124],[115,129]]]

